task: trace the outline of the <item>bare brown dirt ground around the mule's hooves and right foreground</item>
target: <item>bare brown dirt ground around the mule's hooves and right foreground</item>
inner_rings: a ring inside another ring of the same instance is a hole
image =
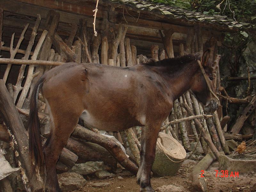
[[[157,191],[158,187],[170,184],[179,184],[187,189],[187,191],[194,192],[191,186],[191,172],[195,165],[195,161],[182,164],[179,172],[173,177],[154,177],[151,179],[152,187]],[[239,177],[216,177],[215,170],[218,170],[219,163],[214,162],[208,170],[204,172],[207,179],[207,192],[256,192],[256,173],[239,174]],[[129,172],[122,172],[117,174],[114,178],[108,179],[87,179],[86,185],[76,192],[139,192],[139,185],[136,184],[136,177],[128,175]],[[120,178],[120,176],[122,178]],[[119,178],[118,178],[119,177]],[[110,183],[109,187],[96,188],[92,184],[99,182]],[[174,191],[173,191],[174,192]],[[185,191],[184,191],[185,192]]]

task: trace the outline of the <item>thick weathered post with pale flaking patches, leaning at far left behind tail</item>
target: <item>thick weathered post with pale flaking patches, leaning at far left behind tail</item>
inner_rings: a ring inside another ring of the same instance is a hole
[[[11,145],[20,167],[20,175],[27,191],[42,190],[42,178],[32,164],[28,152],[28,135],[20,119],[19,113],[11,99],[4,81],[0,79],[0,111],[11,134]]]

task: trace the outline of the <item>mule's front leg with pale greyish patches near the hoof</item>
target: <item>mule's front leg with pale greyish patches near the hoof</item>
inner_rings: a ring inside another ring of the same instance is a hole
[[[150,184],[150,172],[156,155],[156,140],[160,126],[145,127],[141,133],[140,167],[137,173],[137,183],[140,192],[154,192]]]

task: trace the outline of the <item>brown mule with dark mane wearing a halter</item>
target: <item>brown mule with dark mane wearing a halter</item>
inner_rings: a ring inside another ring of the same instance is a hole
[[[86,124],[106,131],[145,126],[141,134],[137,183],[141,192],[154,191],[150,171],[158,132],[172,110],[173,101],[189,89],[207,105],[205,110],[216,110],[209,51],[202,56],[197,53],[156,62],[151,60],[132,67],[65,63],[45,73],[34,88],[29,118],[31,155],[38,166],[45,160],[45,191],[60,191],[56,163],[79,117]],[[43,148],[37,116],[40,90],[52,122]]]

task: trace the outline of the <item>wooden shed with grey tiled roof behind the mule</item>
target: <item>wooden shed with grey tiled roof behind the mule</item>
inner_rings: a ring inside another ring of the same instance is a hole
[[[218,92],[218,47],[225,32],[255,29],[251,24],[239,23],[223,15],[209,16],[149,0],[99,0],[97,8],[96,3],[94,0],[0,0],[0,55],[12,59],[0,59],[0,79],[4,80],[21,114],[28,115],[30,90],[40,76],[64,62],[125,67],[146,62],[149,58],[161,60],[210,49],[215,63],[214,85]],[[164,124],[189,116],[179,105],[185,102],[194,109],[195,115],[202,113],[201,104],[186,92],[174,102],[175,113]],[[40,105],[40,112],[47,113],[43,100]],[[47,121],[45,116],[41,114],[41,123]],[[214,117],[214,121],[204,123],[204,128],[208,135],[218,134],[212,136],[214,145],[219,151],[228,153],[220,127],[221,107]],[[193,150],[189,141],[198,141],[198,130],[198,124],[192,120],[169,124],[162,129],[176,140],[182,140],[187,152]],[[12,132],[15,135],[15,131]],[[49,127],[44,126],[41,133],[47,136]],[[131,138],[138,142],[140,127],[121,135],[114,133],[114,136],[124,141],[125,134],[128,143]],[[129,134],[132,137],[128,137]],[[189,135],[193,135],[190,140]],[[208,152],[203,139],[198,150],[204,154]],[[139,154],[132,155],[136,162]]]

